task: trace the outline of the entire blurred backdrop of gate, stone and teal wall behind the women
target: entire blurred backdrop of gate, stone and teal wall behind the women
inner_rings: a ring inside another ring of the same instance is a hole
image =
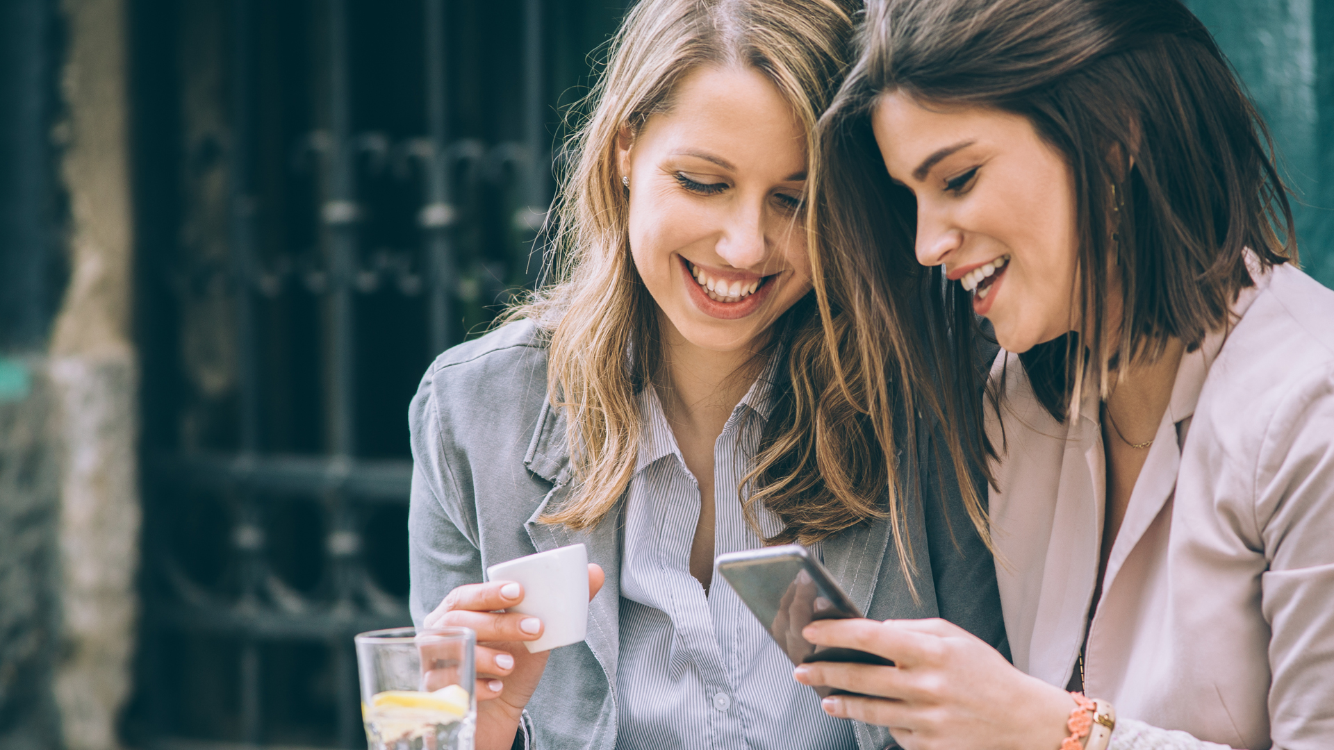
[[[1334,4],[1195,0],[1334,284]],[[364,743],[407,403],[622,0],[0,3],[0,749]],[[1334,324],[1334,322],[1329,322]]]

